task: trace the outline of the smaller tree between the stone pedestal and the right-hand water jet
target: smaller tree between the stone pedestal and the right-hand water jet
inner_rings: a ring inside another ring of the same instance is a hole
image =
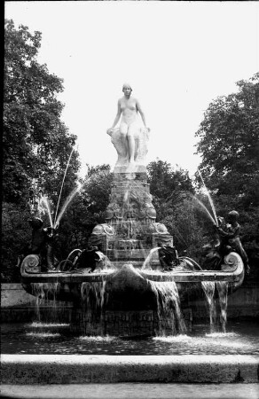
[[[198,260],[207,218],[200,215],[188,172],[162,160],[149,163],[147,171],[157,221],[173,235],[179,253],[186,251]]]

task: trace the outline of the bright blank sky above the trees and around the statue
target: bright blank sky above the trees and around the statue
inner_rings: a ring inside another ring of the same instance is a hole
[[[258,17],[258,2],[5,2],[5,18],[43,34],[39,62],[64,79],[62,119],[83,164],[114,166],[106,129],[130,82],[151,129],[147,162],[191,176],[209,103],[258,72]]]

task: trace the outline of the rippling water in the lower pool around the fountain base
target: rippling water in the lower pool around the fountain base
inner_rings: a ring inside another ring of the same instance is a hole
[[[209,332],[208,323],[192,333],[145,339],[73,336],[66,324],[4,324],[2,353],[60,355],[259,355],[259,324],[229,322],[227,332]]]

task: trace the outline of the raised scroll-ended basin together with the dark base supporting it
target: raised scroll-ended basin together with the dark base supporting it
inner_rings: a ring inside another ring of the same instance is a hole
[[[139,270],[124,264],[116,270],[67,273],[23,272],[27,292],[41,301],[73,301],[72,329],[85,335],[153,336],[190,331],[192,317],[180,310],[192,298],[202,297],[202,282],[222,282],[232,292],[242,282],[243,263],[230,254],[236,265],[231,271]],[[224,265],[224,269],[227,265]],[[187,325],[184,325],[184,318]]]

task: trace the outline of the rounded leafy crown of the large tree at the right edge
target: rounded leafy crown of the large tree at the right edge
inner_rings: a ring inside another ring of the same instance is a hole
[[[208,188],[235,196],[240,207],[259,205],[259,73],[239,91],[216,98],[200,123],[197,153]]]

